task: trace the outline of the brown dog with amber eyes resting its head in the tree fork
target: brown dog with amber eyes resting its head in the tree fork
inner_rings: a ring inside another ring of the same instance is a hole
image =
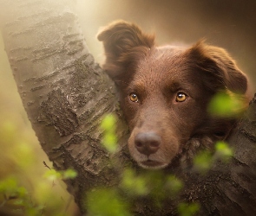
[[[209,115],[216,92],[245,94],[244,73],[222,48],[203,41],[191,48],[155,47],[154,35],[135,24],[113,22],[98,35],[103,68],[115,80],[131,135],[128,148],[143,168],[189,161],[196,149],[213,148],[235,124]]]

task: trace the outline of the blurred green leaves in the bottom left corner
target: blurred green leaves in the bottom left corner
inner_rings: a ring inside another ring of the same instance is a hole
[[[50,169],[45,173],[45,177],[50,181],[75,178],[75,176],[75,170],[70,168],[61,172]],[[49,197],[54,197],[52,185],[47,182],[38,182],[34,194],[32,194],[25,187],[19,186],[18,179],[15,176],[10,176],[0,181],[0,195],[2,196],[0,207],[11,206],[15,213],[28,216],[44,215],[44,213],[49,215],[48,212],[50,212],[50,215],[66,215],[65,213],[58,213],[62,212],[60,208],[62,205],[54,200],[46,206]]]

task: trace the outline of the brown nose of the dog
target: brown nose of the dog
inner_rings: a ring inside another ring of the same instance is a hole
[[[141,154],[149,156],[154,154],[161,144],[161,137],[154,132],[138,133],[135,136],[135,148]]]

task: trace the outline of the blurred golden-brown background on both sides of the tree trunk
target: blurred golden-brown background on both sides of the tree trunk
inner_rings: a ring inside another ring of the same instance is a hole
[[[123,19],[154,33],[158,45],[190,45],[205,38],[212,45],[226,48],[248,75],[253,92],[256,92],[255,0],[76,0],[75,4],[89,50],[99,63],[103,62],[104,55],[102,43],[96,39],[98,30],[109,22]],[[2,37],[0,101],[0,181],[14,176],[17,183],[26,187],[46,208],[55,208],[56,212],[65,209],[65,213],[72,215],[74,208],[69,207],[70,196],[65,193],[65,186],[61,182],[53,186],[51,181],[43,178],[48,169],[43,161],[49,167],[51,163],[37,142],[23,110]],[[42,191],[38,188],[48,191],[46,197],[51,200],[56,197],[57,204],[51,206],[49,199],[42,200],[45,198],[40,196]]]

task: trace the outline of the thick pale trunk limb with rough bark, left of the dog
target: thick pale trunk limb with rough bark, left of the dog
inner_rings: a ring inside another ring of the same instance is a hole
[[[89,54],[71,7],[72,1],[6,1],[2,33],[36,137],[56,169],[78,172],[67,185],[82,206],[89,188],[116,184],[99,124],[119,111],[115,85]],[[125,137],[122,121],[119,128]]]

